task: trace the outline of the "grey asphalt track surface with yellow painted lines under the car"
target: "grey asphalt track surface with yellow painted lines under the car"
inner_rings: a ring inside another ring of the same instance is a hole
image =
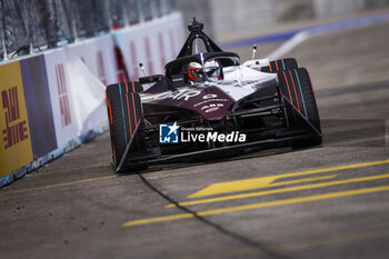
[[[103,133],[0,190],[0,258],[389,258],[388,31],[290,53],[311,72],[321,147],[118,176]]]

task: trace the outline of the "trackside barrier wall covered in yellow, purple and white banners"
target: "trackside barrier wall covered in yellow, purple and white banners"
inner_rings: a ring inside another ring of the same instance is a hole
[[[163,72],[184,41],[180,13],[0,63],[0,188],[108,128],[104,89]],[[137,71],[137,72],[136,72]]]

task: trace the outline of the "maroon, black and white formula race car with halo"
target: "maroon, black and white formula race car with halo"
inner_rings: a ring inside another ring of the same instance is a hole
[[[222,51],[193,20],[166,74],[107,88],[114,170],[321,143],[308,71]]]

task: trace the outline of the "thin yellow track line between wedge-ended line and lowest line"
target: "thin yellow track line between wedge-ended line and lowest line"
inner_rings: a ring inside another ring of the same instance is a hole
[[[225,200],[238,200],[238,199],[245,199],[245,198],[251,198],[251,197],[258,197],[258,196],[268,196],[268,195],[283,193],[283,192],[289,192],[289,191],[299,191],[299,190],[308,190],[308,189],[322,188],[322,187],[340,186],[340,185],[347,185],[347,183],[352,183],[352,182],[372,181],[372,180],[379,180],[379,179],[386,179],[386,178],[389,178],[389,173],[379,175],[379,176],[371,176],[371,177],[338,180],[338,181],[320,182],[320,183],[313,183],[313,185],[308,185],[308,186],[287,187],[287,188],[277,189],[277,190],[256,191],[256,192],[242,193],[242,195],[236,195],[236,196],[225,196],[225,197],[202,199],[202,200],[183,201],[183,202],[179,202],[179,205],[180,206],[192,206],[192,205],[210,203],[210,202],[218,202],[218,201],[225,201]],[[168,205],[164,208],[174,208],[174,207],[176,207],[176,205]]]

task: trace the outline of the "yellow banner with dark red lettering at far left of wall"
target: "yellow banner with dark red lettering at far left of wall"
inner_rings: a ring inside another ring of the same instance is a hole
[[[0,66],[0,177],[32,161],[19,62]]]

